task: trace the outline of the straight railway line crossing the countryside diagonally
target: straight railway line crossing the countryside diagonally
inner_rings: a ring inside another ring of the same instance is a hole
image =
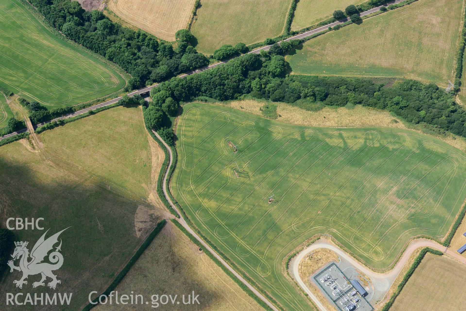
[[[380,10],[381,7],[386,7],[386,6],[389,6],[389,5],[392,5],[392,4],[397,4],[397,3],[400,3],[404,0],[395,0],[395,1],[392,1],[392,2],[389,2],[387,4],[385,4],[384,6],[379,6],[379,7],[374,7],[370,10],[367,10],[367,11],[364,11],[363,13],[361,13],[360,15],[361,16],[366,16],[366,15],[369,15],[369,14],[372,14],[374,12],[377,12],[378,10]],[[315,28],[315,29],[312,29],[312,30],[309,30],[309,31],[306,31],[302,34],[296,34],[295,36],[292,36],[292,37],[289,37],[283,41],[290,41],[290,40],[294,40],[294,39],[303,39],[303,38],[306,38],[308,36],[311,36],[311,35],[314,35],[314,34],[318,34],[318,33],[321,33],[323,31],[326,31],[327,29],[329,29],[329,27],[335,27],[336,25],[341,25],[345,22],[347,22],[349,19],[344,19],[344,20],[338,20],[338,21],[335,21],[331,24],[328,24],[328,25],[325,25],[325,26],[322,26],[322,27],[318,27],[318,28]],[[281,41],[279,41],[281,42]],[[264,51],[268,51],[270,49],[270,47],[272,47],[272,45],[267,45],[265,47],[260,47],[258,49],[255,49],[253,51],[250,51],[248,53],[252,53],[252,54],[259,54],[260,51],[264,50]],[[218,63],[215,63],[215,64],[212,64],[212,65],[209,65],[207,67],[204,67],[204,68],[199,68],[197,70],[194,70],[194,71],[191,71],[191,72],[188,72],[186,74],[181,74],[179,75],[178,77],[180,78],[184,78],[188,75],[191,75],[191,74],[197,74],[199,72],[202,72],[204,70],[208,70],[208,69],[211,69],[211,68],[214,68],[214,67],[217,67],[219,65],[222,65],[222,64],[225,64],[228,60],[226,61],[220,61]],[[152,88],[155,88],[158,86],[158,83],[157,84],[154,84],[154,85],[151,85],[151,86],[148,86],[148,87],[145,87],[145,88],[141,88],[141,89],[138,89],[136,91],[133,91],[133,92],[130,92],[128,93],[128,96],[133,96],[133,95],[136,95],[136,94],[144,94],[144,93],[147,93],[149,92]],[[57,121],[57,120],[64,120],[64,119],[67,119],[67,118],[70,118],[70,117],[73,117],[73,116],[76,116],[76,115],[81,115],[83,113],[86,113],[86,112],[89,112],[90,110],[95,110],[97,108],[101,108],[101,107],[105,107],[105,106],[109,106],[111,104],[114,104],[116,103],[117,101],[119,101],[122,97],[119,96],[117,98],[114,98],[110,101],[105,101],[105,102],[101,102],[100,104],[96,104],[94,106],[91,106],[91,107],[88,107],[88,108],[84,108],[84,109],[81,109],[79,111],[75,111],[71,114],[68,114],[68,115],[63,115],[61,117],[58,117],[58,118],[55,118],[51,121],[48,121],[48,122],[53,122],[53,121]],[[45,123],[48,123],[48,122],[42,122],[42,123],[39,123],[37,124],[37,126],[42,126],[44,125]],[[15,132],[15,133],[12,133],[12,134],[8,134],[8,135],[5,135],[5,136],[0,136],[0,140],[2,139],[5,139],[7,137],[10,137],[10,136],[13,136],[13,135],[16,135],[16,134],[19,134],[19,133],[23,133],[23,132],[26,132],[27,129],[22,129],[18,132]]]

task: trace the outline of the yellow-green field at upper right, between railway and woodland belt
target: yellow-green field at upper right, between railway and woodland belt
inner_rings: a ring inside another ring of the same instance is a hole
[[[294,73],[452,80],[462,0],[419,0],[304,44],[287,57]]]

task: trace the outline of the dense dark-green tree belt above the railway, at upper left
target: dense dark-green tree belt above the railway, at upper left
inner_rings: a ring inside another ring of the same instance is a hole
[[[190,45],[189,30],[176,34],[175,48],[144,31],[113,23],[102,12],[87,12],[77,1],[31,0],[45,19],[69,39],[113,61],[131,74],[127,90],[206,66],[209,61]]]

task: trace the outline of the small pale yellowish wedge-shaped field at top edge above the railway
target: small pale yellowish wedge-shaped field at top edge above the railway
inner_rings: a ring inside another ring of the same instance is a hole
[[[296,5],[291,30],[300,30],[332,17],[333,11],[342,10],[350,4],[358,5],[365,0],[300,0]]]

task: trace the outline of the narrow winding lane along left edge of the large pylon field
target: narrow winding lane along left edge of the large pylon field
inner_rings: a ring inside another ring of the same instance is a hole
[[[175,204],[173,204],[173,202],[171,202],[171,199],[170,199],[170,196],[167,195],[167,178],[168,178],[168,172],[170,170],[170,167],[171,167],[171,163],[173,163],[173,154],[171,153],[171,149],[170,147],[166,144],[166,142],[164,142],[164,140],[162,139],[162,137],[160,137],[158,135],[158,133],[154,130],[152,130],[152,132],[154,133],[154,135],[157,136],[157,138],[164,144],[165,148],[168,150],[168,155],[169,155],[169,161],[168,161],[168,165],[167,165],[167,169],[165,170],[165,176],[164,176],[164,179],[163,179],[163,182],[162,182],[162,190],[164,191],[164,196],[165,198],[167,199],[168,203],[170,203],[171,207],[176,210],[176,212],[178,213],[178,215],[180,216],[179,219],[176,219],[186,230],[188,230],[189,233],[192,234],[193,237],[195,237],[203,246],[206,250],[209,250],[213,256],[215,256],[219,261],[220,263],[222,263],[228,270],[230,270],[233,275],[235,277],[238,277],[240,279],[241,282],[243,282],[251,291],[254,292],[254,294],[256,294],[261,300],[263,300],[268,306],[270,306],[270,308],[272,308],[272,310],[274,311],[278,311],[278,309],[270,302],[267,300],[266,297],[264,297],[259,291],[257,291],[251,284],[249,284],[243,277],[241,277],[241,275],[236,272],[232,267],[230,267],[226,262],[225,260],[223,260],[222,257],[220,257],[219,254],[217,254],[214,250],[212,250],[212,248],[206,244],[206,242],[204,242],[203,239],[201,239],[197,234],[196,232],[194,232],[194,230],[191,229],[191,227],[186,223],[185,219],[183,218],[183,214],[180,213],[180,211],[178,210],[178,208],[175,206]]]

